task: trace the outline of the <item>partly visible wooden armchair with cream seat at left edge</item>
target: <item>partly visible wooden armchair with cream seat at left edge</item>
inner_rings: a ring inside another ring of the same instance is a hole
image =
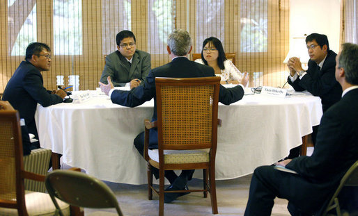
[[[24,189],[24,179],[45,181],[45,176],[24,170],[20,117],[16,110],[0,111],[0,215],[54,215],[49,194]],[[61,202],[70,215],[70,206]],[[79,215],[79,208],[72,215]]]

